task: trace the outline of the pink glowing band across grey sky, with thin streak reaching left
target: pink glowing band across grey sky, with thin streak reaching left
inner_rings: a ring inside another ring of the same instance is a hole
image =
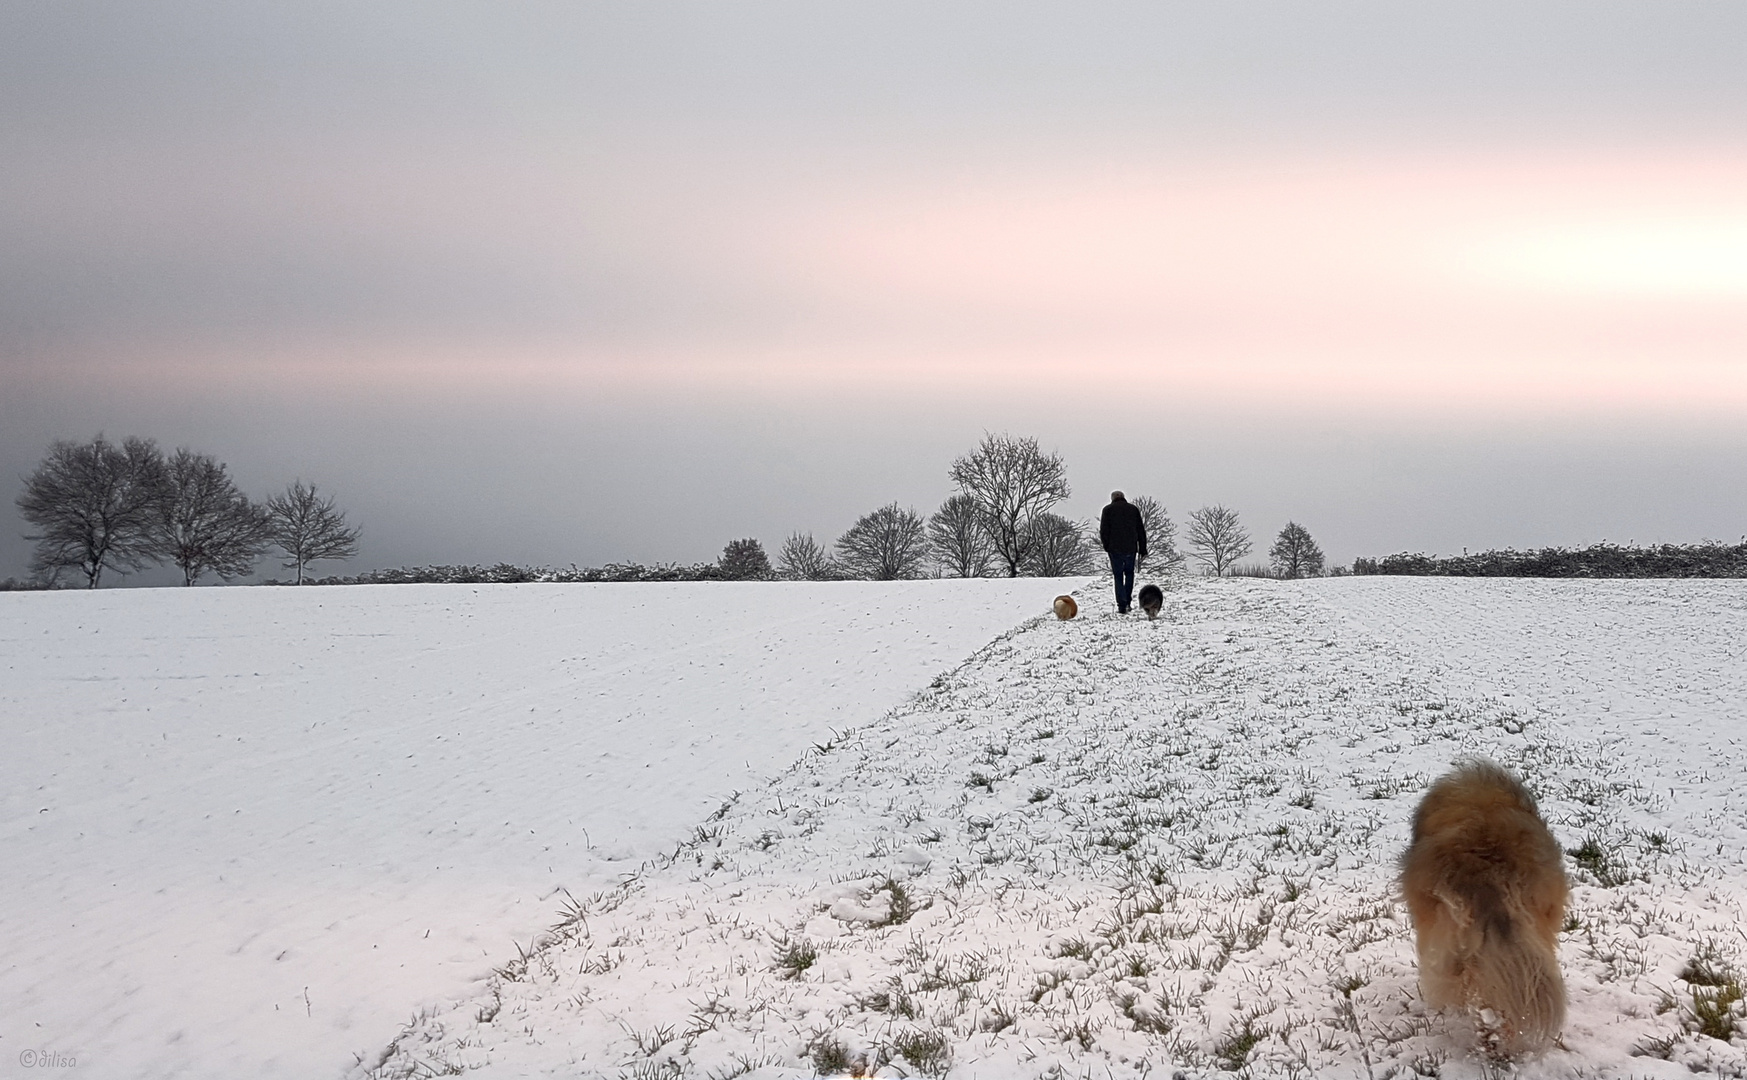
[[[1258,405],[1747,409],[1747,156],[1247,156],[776,194],[741,182],[657,199],[604,241],[582,211],[484,206],[465,222],[472,259],[508,264],[487,239],[508,236],[559,287],[580,273],[577,252],[603,246],[680,283],[604,332],[482,334],[437,316],[435,334],[293,332],[238,350],[176,329],[168,344],[105,341],[54,367],[126,358],[136,377],[194,367],[363,391],[489,370],[498,386],[577,391],[1024,395],[1118,379]],[[433,213],[402,211],[362,243],[391,248]],[[708,316],[683,316],[697,297]]]

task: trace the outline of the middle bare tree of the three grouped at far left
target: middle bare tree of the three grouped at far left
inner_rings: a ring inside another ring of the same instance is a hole
[[[225,580],[252,573],[273,543],[266,509],[236,489],[217,458],[185,447],[164,461],[154,528],[157,556],[182,570],[183,585],[208,570]]]

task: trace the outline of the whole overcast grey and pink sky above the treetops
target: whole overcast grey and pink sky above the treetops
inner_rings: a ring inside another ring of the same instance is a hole
[[[1735,540],[1744,49],[1737,0],[12,2],[0,577],[98,432],[335,493],[318,571],[832,538],[984,430],[1074,516],[1338,561]]]

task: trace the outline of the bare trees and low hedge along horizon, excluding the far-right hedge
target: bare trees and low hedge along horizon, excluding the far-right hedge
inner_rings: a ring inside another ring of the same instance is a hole
[[[720,559],[697,566],[425,566],[328,577],[320,584],[898,580],[1071,577],[1101,568],[1095,523],[1055,512],[1071,495],[1066,463],[1034,437],[985,433],[973,451],[950,463],[947,477],[954,493],[928,517],[891,502],[858,517],[830,543],[791,533],[774,561],[760,540],[744,538],[730,542]],[[1179,550],[1177,526],[1164,503],[1150,495],[1129,502],[1146,526],[1143,568],[1153,573],[1181,573],[1190,561],[1214,577],[1296,578],[1324,571],[1322,550],[1296,523],[1288,523],[1268,549],[1268,568],[1244,566],[1240,559],[1254,545],[1235,510],[1225,505],[1191,510],[1183,535],[1186,550]],[[45,584],[73,571],[94,589],[105,571],[129,573],[150,563],[175,564],[187,585],[206,573],[231,580],[252,573],[273,547],[285,552],[283,566],[295,571],[297,584],[306,584],[311,563],[358,554],[358,530],[313,484],[295,481],[257,503],[211,454],[182,447],[166,456],[150,439],[126,439],[119,446],[103,435],[56,442],[26,477],[17,507],[35,526],[26,535],[35,542],[31,573]]]

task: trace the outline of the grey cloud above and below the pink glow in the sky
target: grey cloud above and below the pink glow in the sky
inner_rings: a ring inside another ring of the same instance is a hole
[[[1064,393],[1017,404],[590,383],[493,404],[489,348],[477,386],[449,390],[58,365],[215,336],[245,358],[445,336],[781,343],[828,313],[739,243],[765,208],[917,170],[1207,147],[1738,145],[1744,31],[1733,0],[7,3],[0,500],[51,439],[105,430],[211,451],[255,493],[332,488],[367,528],[358,566],[701,559],[739,535],[830,537],[893,498],[928,509],[952,454],[1015,428],[1060,447],[1081,491],[1226,502],[1256,530],[1295,517],[1336,559],[1728,538],[1738,428],[1672,419],[1626,444],[1604,421],[1415,430],[1130,400],[1071,367]],[[863,315],[833,329],[893,332]],[[954,330],[940,318],[921,363]],[[0,577],[23,570],[19,531]]]

